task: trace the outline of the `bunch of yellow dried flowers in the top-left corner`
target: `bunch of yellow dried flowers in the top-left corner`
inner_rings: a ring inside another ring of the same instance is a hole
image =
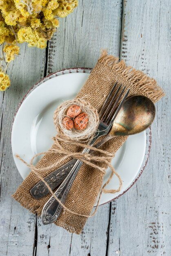
[[[44,49],[59,26],[59,17],[66,17],[77,5],[78,0],[0,0],[0,44],[6,43],[5,58],[0,59],[12,61],[19,54],[18,43]]]

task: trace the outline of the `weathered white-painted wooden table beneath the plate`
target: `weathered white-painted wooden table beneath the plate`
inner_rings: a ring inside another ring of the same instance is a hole
[[[170,256],[171,255],[171,30],[170,0],[79,0],[45,50],[21,46],[0,93],[0,256]],[[136,184],[105,204],[80,236],[41,219],[11,198],[22,178],[10,144],[14,112],[42,77],[69,67],[94,67],[100,49],[154,77],[166,96],[157,104],[152,148]],[[170,230],[169,230],[170,229]]]

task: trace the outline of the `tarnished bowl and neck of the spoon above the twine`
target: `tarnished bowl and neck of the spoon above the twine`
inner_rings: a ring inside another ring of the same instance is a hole
[[[109,134],[95,146],[98,148],[113,137],[143,132],[153,123],[154,118],[153,101],[142,95],[129,97],[118,113]]]

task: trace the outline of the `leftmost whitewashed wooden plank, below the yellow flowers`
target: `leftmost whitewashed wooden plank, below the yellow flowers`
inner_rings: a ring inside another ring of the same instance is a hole
[[[35,216],[11,198],[22,182],[11,152],[11,124],[16,108],[31,86],[44,74],[45,51],[22,45],[8,74],[11,87],[2,92],[0,137],[0,255],[33,255]]]

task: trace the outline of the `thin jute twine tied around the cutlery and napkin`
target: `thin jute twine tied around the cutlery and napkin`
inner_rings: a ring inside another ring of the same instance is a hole
[[[29,164],[27,164],[27,162],[25,162],[19,155],[16,155],[16,157],[18,159],[20,159],[21,162],[26,164],[31,169],[31,171],[40,180],[42,180],[42,182],[44,182],[44,184],[49,189],[49,192],[51,193],[51,195],[58,201],[58,203],[64,208],[64,210],[66,210],[69,213],[74,214],[76,216],[82,216],[82,217],[86,217],[86,218],[94,216],[96,211],[97,211],[97,209],[98,209],[102,193],[116,193],[116,192],[119,192],[121,187],[122,187],[122,180],[121,180],[120,176],[118,175],[118,173],[115,171],[115,168],[111,165],[111,159],[113,157],[113,154],[108,152],[108,151],[106,151],[106,150],[95,148],[93,146],[89,146],[89,145],[84,144],[84,143],[79,143],[78,141],[71,141],[70,139],[66,138],[66,136],[61,135],[61,134],[56,135],[56,137],[53,137],[53,141],[54,141],[54,144],[55,144],[56,148],[51,148],[51,149],[47,150],[46,152],[42,152],[42,153],[38,153],[38,154],[34,155],[32,157],[32,159],[31,159]],[[71,151],[68,151],[64,147],[65,144],[73,144],[73,145],[76,145],[76,146],[80,146],[82,148],[89,148],[89,149],[93,150],[94,152],[102,154],[103,156],[92,155],[92,154],[89,154],[89,153],[82,154],[80,152],[71,152]],[[36,166],[33,164],[33,161],[34,161],[34,159],[36,157],[38,157],[40,155],[54,154],[54,153],[55,154],[62,154],[64,156],[60,160],[58,160],[58,162],[55,162],[54,164],[51,164],[50,166],[47,166],[47,167],[36,168]],[[76,159],[84,162],[84,164],[87,164],[87,165],[89,165],[89,166],[91,166],[93,168],[96,168],[98,171],[102,172],[103,174],[105,174],[106,168],[98,166],[98,163],[101,163],[103,166],[105,165],[106,167],[109,167],[111,169],[111,174],[109,176],[109,179],[107,180],[107,182],[105,182],[105,184],[102,186],[102,189],[100,191],[98,202],[97,202],[97,205],[95,207],[95,210],[90,215],[77,213],[77,212],[71,211],[69,208],[67,208],[57,198],[55,193],[53,193],[53,191],[51,190],[49,184],[44,180],[42,175],[40,175],[40,173],[39,173],[39,172],[47,171],[47,170],[50,170],[51,168],[55,168],[55,167],[59,166],[59,164],[61,162],[63,162],[65,159],[67,159],[69,157],[76,158]],[[92,163],[92,161],[97,162],[97,164]],[[119,180],[119,187],[118,187],[118,189],[110,189],[110,190],[105,189],[105,187],[107,186],[107,184],[109,184],[109,182],[111,181],[111,179],[112,179],[114,174],[118,177],[118,180]]]

